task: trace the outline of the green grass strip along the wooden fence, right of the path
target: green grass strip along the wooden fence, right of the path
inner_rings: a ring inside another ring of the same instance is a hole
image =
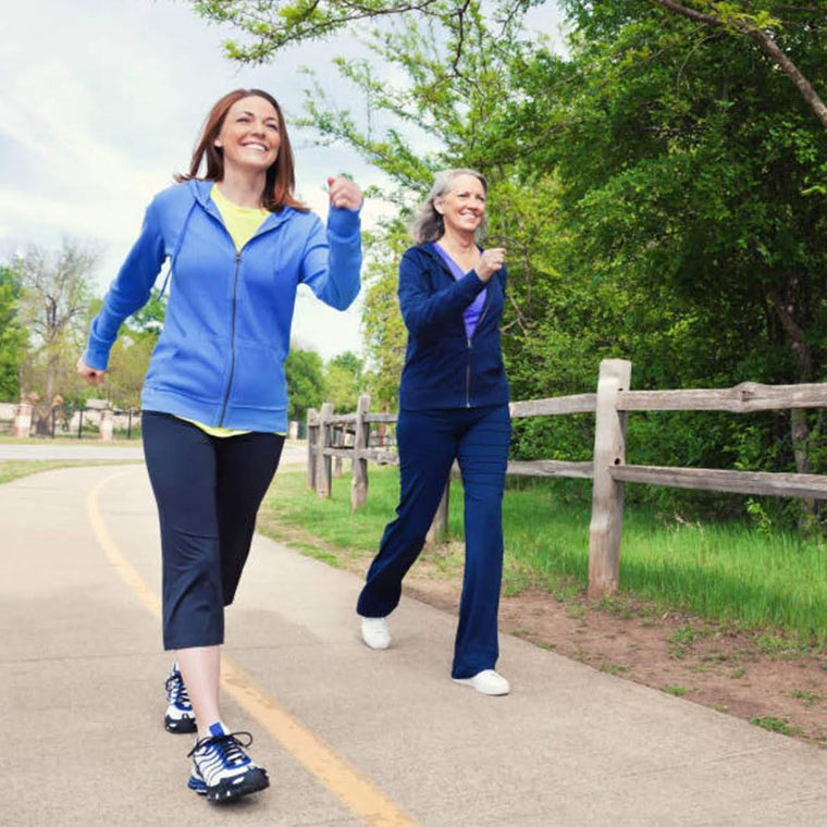
[[[345,558],[369,559],[397,496],[395,467],[371,466],[368,504],[357,514],[350,513],[347,474],[334,479],[333,496],[325,501],[307,490],[304,473],[281,473],[262,506],[262,530],[277,535],[279,527],[303,529]],[[590,506],[585,486],[560,493],[542,480],[509,481],[503,507],[506,594],[535,587],[560,600],[582,598]],[[461,570],[461,522],[462,486],[455,479],[448,544],[425,555],[446,577]],[[665,522],[652,508],[627,506],[620,581],[622,596],[658,609],[762,629],[761,646],[767,652],[827,644],[827,548],[817,541],[744,523]],[[679,630],[671,642],[676,654],[692,645],[692,634],[689,627]]]

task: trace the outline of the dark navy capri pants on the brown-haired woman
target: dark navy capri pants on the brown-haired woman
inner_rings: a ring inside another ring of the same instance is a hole
[[[157,411],[141,427],[161,523],[163,646],[221,644],[284,436],[210,436]]]

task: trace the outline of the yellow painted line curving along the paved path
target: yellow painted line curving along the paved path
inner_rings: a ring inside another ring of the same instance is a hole
[[[100,491],[129,471],[119,471],[100,480],[89,492],[87,513],[107,558],[144,606],[157,618],[161,603],[126,559],[100,510]],[[416,822],[365,778],[351,764],[294,718],[277,701],[268,695],[231,658],[222,655],[221,683],[224,691],[266,729],[299,764],[318,778],[346,807],[370,827],[416,827]]]

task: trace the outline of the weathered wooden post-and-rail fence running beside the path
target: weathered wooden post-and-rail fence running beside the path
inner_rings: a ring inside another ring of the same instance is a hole
[[[593,480],[589,529],[589,596],[615,592],[620,582],[620,538],[624,486],[627,482],[679,489],[726,491],[740,494],[827,499],[827,477],[804,473],[758,473],[711,468],[664,468],[626,464],[627,417],[638,410],[720,410],[750,414],[760,410],[827,407],[827,384],[762,385],[742,382],[729,388],[687,391],[632,391],[631,362],[604,359],[597,393],[529,399],[510,404],[513,419],[594,414],[594,452],[591,461],[559,459],[511,460],[507,473],[519,477],[571,477]],[[350,459],[350,506],[368,499],[368,462],[398,464],[394,449],[374,444],[371,424],[396,422],[395,414],[371,414],[370,397],[361,396],[354,414],[334,414],[325,403],[321,411],[307,412],[307,484],[320,496],[330,496],[331,459]],[[436,542],[447,530],[448,490],[428,532]]]

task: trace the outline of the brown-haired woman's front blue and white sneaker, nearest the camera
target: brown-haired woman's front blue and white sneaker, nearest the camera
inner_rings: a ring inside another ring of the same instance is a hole
[[[193,772],[187,787],[206,795],[213,804],[223,804],[269,787],[267,772],[256,766],[244,751],[251,743],[249,732],[227,732],[221,724],[213,724],[209,738],[196,741],[189,751]]]

